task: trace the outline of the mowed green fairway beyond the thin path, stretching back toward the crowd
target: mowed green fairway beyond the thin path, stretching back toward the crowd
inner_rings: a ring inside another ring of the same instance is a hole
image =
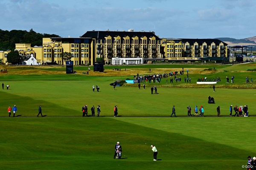
[[[39,105],[43,114],[48,116],[81,116],[81,107],[88,105],[89,113],[92,105],[101,106],[102,116],[113,116],[113,107],[118,105],[119,116],[170,116],[175,105],[177,116],[187,114],[187,106],[201,105],[205,108],[205,116],[217,115],[216,108],[221,107],[221,115],[229,115],[230,105],[248,105],[250,115],[256,98],[255,89],[218,88],[215,92],[209,88],[175,88],[164,87],[163,80],[158,83],[147,83],[145,90],[137,85],[116,87],[109,85],[116,79],[125,77],[84,77],[61,76],[19,76],[19,81],[6,81],[11,85],[9,90],[0,91],[0,116],[7,116],[8,106],[17,105],[17,114],[36,116]],[[33,81],[34,79],[34,81]],[[237,80],[238,81],[238,80]],[[173,83],[179,84],[179,83]],[[189,84],[189,83],[180,83]],[[196,85],[195,82],[190,83]],[[239,84],[239,83],[234,83]],[[245,83],[244,83],[245,84]],[[98,85],[100,91],[93,92],[92,86]],[[150,88],[158,87],[158,94],[151,94]],[[167,83],[170,85],[170,83]],[[231,85],[231,83],[229,84]],[[207,86],[207,85],[206,85]],[[208,96],[215,98],[216,104],[208,104]]]

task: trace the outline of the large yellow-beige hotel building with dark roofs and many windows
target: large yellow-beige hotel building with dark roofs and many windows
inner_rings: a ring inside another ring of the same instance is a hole
[[[228,57],[227,43],[217,39],[159,38],[154,32],[87,31],[78,38],[43,38],[42,46],[16,44],[22,56],[35,57],[38,64],[65,64],[61,54],[70,52],[74,65],[93,65],[96,58],[105,64],[143,64],[156,60],[195,61],[202,57]],[[0,51],[8,64],[9,51]]]

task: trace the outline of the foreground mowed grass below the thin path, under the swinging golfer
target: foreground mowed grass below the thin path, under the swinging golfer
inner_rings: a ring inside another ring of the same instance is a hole
[[[248,130],[254,122],[255,117],[1,118],[1,169],[241,169],[256,154]],[[113,159],[116,141],[121,160]],[[151,144],[159,161],[152,161]]]

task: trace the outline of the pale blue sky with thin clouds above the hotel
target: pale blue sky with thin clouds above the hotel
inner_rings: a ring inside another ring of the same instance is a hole
[[[154,31],[160,38],[256,36],[256,0],[0,0],[0,29],[61,37]]]

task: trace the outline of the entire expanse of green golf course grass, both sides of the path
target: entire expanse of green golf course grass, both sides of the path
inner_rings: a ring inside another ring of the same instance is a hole
[[[136,68],[129,67],[135,73]],[[166,66],[143,67],[152,68],[151,73],[157,74],[154,69]],[[189,70],[193,70],[190,67]],[[139,90],[137,85],[126,85],[114,91],[109,85],[116,79],[133,79],[132,72],[128,76],[116,73],[115,77],[1,76],[1,82],[11,88],[0,89],[0,169],[243,169],[246,157],[256,156],[254,82],[248,84],[248,88],[243,86],[244,78],[254,74],[247,72],[248,67],[244,65],[242,68],[211,65],[222,70],[214,73],[204,72],[206,65],[200,67],[201,71],[197,68],[190,74],[190,86],[183,83],[183,75],[180,83],[183,88],[177,88],[176,82],[176,87],[169,81],[166,84],[163,79],[159,84],[146,84],[145,90],[142,87]],[[182,67],[172,69],[177,68]],[[112,72],[111,69],[106,71]],[[233,74],[235,83],[225,83],[225,77],[229,76],[231,82]],[[221,77],[215,92],[211,85],[195,88],[196,79],[204,76]],[[92,85],[99,85],[100,92],[93,93]],[[153,85],[158,86],[159,94],[151,94]],[[208,104],[208,96],[214,97],[216,104]],[[17,105],[16,114],[22,116],[7,117],[8,106],[13,105]],[[36,117],[39,105],[46,117]],[[82,118],[83,105],[88,105],[89,115],[92,105],[100,105],[101,117]],[[114,105],[118,105],[120,117],[113,117]],[[176,118],[169,117],[173,105]],[[203,105],[206,117],[186,117],[188,105],[192,106],[192,113],[195,105]],[[221,117],[215,117],[218,105]],[[230,105],[248,105],[249,115],[253,116],[227,117]],[[117,141],[123,148],[122,160],[113,159]],[[151,144],[157,147],[159,161],[152,161]]]

